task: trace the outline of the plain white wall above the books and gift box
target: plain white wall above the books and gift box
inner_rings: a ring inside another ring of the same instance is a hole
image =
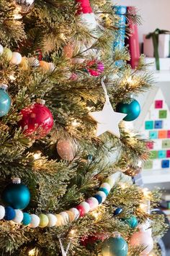
[[[140,42],[143,34],[153,32],[157,27],[170,30],[170,0],[113,0],[114,4],[135,6],[142,17],[139,27]]]

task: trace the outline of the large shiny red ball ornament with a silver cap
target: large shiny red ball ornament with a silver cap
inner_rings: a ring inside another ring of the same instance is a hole
[[[45,101],[38,99],[37,103],[20,111],[22,119],[19,121],[19,127],[22,127],[25,135],[40,139],[48,135],[53,128],[53,116],[44,104]]]

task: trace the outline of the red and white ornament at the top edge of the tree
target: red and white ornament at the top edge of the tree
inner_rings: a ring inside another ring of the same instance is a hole
[[[91,9],[89,0],[76,0],[79,4],[78,14],[81,16],[81,20],[84,22],[86,27],[94,30],[97,28],[97,20],[95,19],[94,13]]]

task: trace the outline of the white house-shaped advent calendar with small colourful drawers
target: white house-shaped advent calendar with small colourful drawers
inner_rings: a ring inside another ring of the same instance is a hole
[[[150,159],[144,169],[170,168],[170,111],[160,88],[154,88],[146,98],[135,128],[149,139]]]

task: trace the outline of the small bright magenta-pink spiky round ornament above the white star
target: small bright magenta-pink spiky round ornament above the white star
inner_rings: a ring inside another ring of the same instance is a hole
[[[104,72],[104,64],[102,61],[97,61],[94,59],[92,61],[88,61],[86,66],[89,74],[94,77],[98,77],[100,74],[102,74],[102,72]]]

